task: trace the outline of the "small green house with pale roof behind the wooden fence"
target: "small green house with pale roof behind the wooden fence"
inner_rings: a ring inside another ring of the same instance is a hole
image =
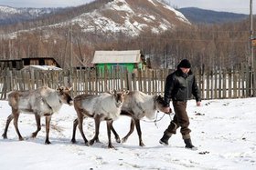
[[[142,58],[140,50],[128,51],[95,51],[91,62],[96,68],[104,70],[105,67],[109,71],[119,66],[133,72],[134,68],[142,68]]]

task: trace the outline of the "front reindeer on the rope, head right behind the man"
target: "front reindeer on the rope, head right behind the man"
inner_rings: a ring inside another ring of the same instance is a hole
[[[144,146],[142,139],[142,131],[140,120],[145,116],[148,119],[155,118],[156,111],[164,111],[165,101],[162,95],[146,95],[140,91],[132,91],[125,96],[121,115],[128,115],[131,119],[130,131],[122,139],[122,143],[126,142],[128,137],[133,133],[134,125],[139,136],[139,145]],[[169,114],[169,113],[165,113]],[[116,139],[119,139],[119,135],[112,127],[112,132]]]

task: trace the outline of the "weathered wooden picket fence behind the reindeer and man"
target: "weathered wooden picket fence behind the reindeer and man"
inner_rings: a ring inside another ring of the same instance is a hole
[[[146,94],[164,94],[165,77],[173,70],[127,70],[117,68],[108,72],[94,69],[42,71],[0,70],[0,99],[12,90],[32,90],[42,85],[56,88],[58,85],[73,86],[72,95],[101,94],[110,89],[140,90]],[[203,99],[240,98],[255,94],[255,84],[249,67],[233,69],[195,69],[197,83]],[[254,85],[254,88],[252,86]]]

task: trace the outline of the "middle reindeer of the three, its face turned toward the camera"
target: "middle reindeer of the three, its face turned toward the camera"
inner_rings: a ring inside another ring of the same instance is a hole
[[[99,141],[99,130],[101,121],[105,120],[107,122],[107,132],[109,139],[109,148],[113,148],[111,140],[111,128],[112,123],[116,120],[121,112],[121,107],[123,105],[124,96],[127,95],[129,91],[116,92],[112,91],[110,93],[103,93],[101,95],[78,95],[74,98],[74,107],[77,112],[78,118],[74,120],[73,123],[73,135],[71,142],[76,143],[76,127],[79,125],[80,134],[84,140],[85,145],[93,145],[93,143]],[[85,117],[91,117],[95,122],[95,135],[88,141],[83,133],[82,123]],[[118,140],[118,139],[116,139]],[[120,142],[120,139],[119,141]]]

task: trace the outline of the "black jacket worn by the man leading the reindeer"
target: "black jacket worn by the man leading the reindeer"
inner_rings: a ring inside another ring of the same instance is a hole
[[[195,75],[190,70],[184,74],[179,67],[177,70],[166,77],[165,82],[165,103],[169,106],[170,100],[187,101],[191,94],[197,101],[201,101],[199,89]]]

